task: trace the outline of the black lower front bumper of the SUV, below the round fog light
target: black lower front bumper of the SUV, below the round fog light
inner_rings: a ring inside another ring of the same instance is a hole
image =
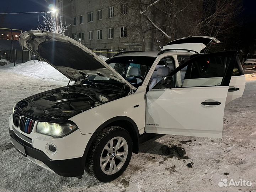
[[[24,147],[25,154],[23,155],[27,156],[28,159],[31,160],[31,158],[33,158],[35,160],[41,161],[44,165],[49,167],[50,170],[54,171],[60,176],[76,177],[84,174],[85,159],[83,157],[64,160],[52,160],[49,159],[48,156],[43,153],[43,151],[33,148],[31,144],[20,139],[13,130],[10,130],[10,128],[9,133],[12,139]],[[17,149],[15,143],[14,147]],[[17,149],[17,151],[21,153],[20,150]]]

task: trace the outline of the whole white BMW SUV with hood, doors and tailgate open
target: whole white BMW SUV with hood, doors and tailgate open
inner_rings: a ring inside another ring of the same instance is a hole
[[[22,33],[21,46],[75,83],[18,102],[12,144],[60,176],[81,178],[86,170],[109,182],[138,153],[143,133],[222,137],[225,104],[242,96],[245,76],[237,51],[199,54],[212,42],[182,38],[161,52],[104,62],[69,37]]]

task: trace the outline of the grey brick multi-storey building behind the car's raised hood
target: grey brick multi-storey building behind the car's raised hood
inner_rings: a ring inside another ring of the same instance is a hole
[[[67,35],[86,47],[142,50],[139,32],[129,19],[136,19],[129,9],[129,1],[58,0],[58,3],[64,22],[68,24],[67,20],[71,20]],[[149,30],[144,34],[145,50],[158,48],[156,33],[156,30]]]

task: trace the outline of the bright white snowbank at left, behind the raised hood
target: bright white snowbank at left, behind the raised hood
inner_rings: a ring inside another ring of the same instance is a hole
[[[56,80],[56,81],[69,81],[62,73],[53,68],[47,62],[38,60],[31,60],[26,63],[14,64],[10,63],[0,67],[1,70],[31,76],[39,79]]]

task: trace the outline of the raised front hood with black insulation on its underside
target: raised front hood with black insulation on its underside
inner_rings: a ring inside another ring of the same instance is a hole
[[[20,45],[69,79],[78,81],[85,75],[98,75],[136,89],[90,49],[70,37],[48,31],[26,31],[20,35]]]

